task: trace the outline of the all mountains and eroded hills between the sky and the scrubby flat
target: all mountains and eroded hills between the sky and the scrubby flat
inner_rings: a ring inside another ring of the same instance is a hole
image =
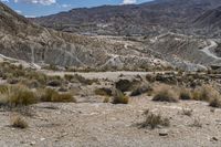
[[[156,0],[25,19],[0,2],[0,55],[40,66],[204,70],[221,61],[221,41],[210,38],[220,35],[220,3]]]

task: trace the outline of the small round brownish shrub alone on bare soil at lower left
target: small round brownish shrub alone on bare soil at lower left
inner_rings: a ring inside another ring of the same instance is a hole
[[[21,116],[14,116],[11,119],[11,126],[14,128],[21,128],[24,129],[27,128],[29,125],[28,123],[24,120],[24,118],[22,118]]]

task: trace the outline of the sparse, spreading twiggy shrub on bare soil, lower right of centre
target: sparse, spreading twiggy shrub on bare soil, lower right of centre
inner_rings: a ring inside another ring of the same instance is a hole
[[[143,123],[139,123],[138,126],[140,128],[156,128],[159,126],[169,126],[170,122],[168,118],[162,118],[160,114],[156,115],[154,113],[150,113],[149,109],[147,109],[145,113],[145,120]]]

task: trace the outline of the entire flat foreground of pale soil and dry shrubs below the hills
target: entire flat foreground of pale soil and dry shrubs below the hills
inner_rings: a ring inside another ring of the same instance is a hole
[[[221,145],[220,74],[30,71],[6,60],[0,66],[1,146]],[[161,92],[161,102],[154,99]]]

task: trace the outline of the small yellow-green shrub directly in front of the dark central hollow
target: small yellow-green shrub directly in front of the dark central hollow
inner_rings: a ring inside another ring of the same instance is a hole
[[[128,104],[129,97],[124,95],[124,93],[119,90],[116,90],[114,93],[113,104]]]

